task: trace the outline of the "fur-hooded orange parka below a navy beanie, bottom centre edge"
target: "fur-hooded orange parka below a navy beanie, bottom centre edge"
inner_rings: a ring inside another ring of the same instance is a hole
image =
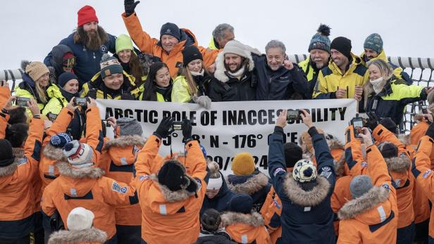
[[[225,226],[225,231],[237,243],[271,244],[270,235],[263,225],[261,214],[257,212],[251,214],[225,212],[221,215],[221,221]]]

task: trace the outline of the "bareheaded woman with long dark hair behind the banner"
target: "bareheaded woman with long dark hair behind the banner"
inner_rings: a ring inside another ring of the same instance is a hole
[[[156,62],[149,68],[149,74],[140,86],[139,100],[170,102],[173,80],[166,63]]]

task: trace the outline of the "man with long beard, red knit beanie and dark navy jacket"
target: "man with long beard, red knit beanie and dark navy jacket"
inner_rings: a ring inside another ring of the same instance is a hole
[[[107,34],[106,31],[99,26],[97,13],[92,6],[84,6],[77,12],[77,30],[70,34],[59,44],[64,44],[72,49],[76,60],[74,68],[80,82],[82,84],[89,82],[92,76],[99,72],[99,63],[104,53],[115,53],[116,37]],[[51,66],[51,52],[44,59],[46,66]]]

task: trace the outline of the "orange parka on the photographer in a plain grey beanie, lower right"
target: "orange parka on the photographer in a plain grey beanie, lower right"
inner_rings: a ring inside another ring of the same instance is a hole
[[[360,142],[354,137],[352,126],[346,133],[350,145],[361,148]],[[396,243],[396,190],[392,186],[380,150],[372,145],[366,148],[366,159],[361,150],[351,150],[345,158],[352,176],[371,176],[374,186],[359,198],[349,200],[337,213],[341,219],[337,243]]]

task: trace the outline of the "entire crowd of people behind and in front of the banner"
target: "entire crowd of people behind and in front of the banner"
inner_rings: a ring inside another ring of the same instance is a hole
[[[349,39],[330,41],[320,25],[297,64],[283,42],[261,53],[228,24],[208,47],[174,23],[152,38],[135,13],[140,2],[124,2],[130,36],[108,34],[83,6],[77,30],[44,62],[23,61],[12,89],[1,82],[0,243],[434,243],[434,92],[387,61],[379,34],[356,56]],[[97,98],[205,109],[354,98],[366,118],[340,142],[302,110],[306,131],[284,143],[283,109],[268,138],[268,175],[238,153],[225,176],[190,121],[181,126],[185,153],[159,155],[171,117],[143,134],[133,118],[101,120]],[[428,108],[400,134],[406,105],[418,101]]]

